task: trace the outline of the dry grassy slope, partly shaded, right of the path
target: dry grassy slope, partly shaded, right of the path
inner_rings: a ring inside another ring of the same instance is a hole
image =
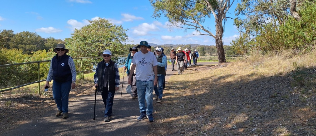
[[[149,135],[316,135],[315,91],[297,93],[306,86],[291,86],[290,78],[313,69],[315,56],[284,51],[189,67],[167,81]]]

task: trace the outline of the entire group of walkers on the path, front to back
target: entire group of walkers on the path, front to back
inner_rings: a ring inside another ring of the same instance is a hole
[[[140,48],[140,52],[137,48]],[[63,115],[62,119],[66,119],[68,118],[70,89],[76,87],[76,67],[72,57],[66,55],[69,50],[65,48],[64,44],[57,44],[53,51],[57,54],[50,63],[44,87],[49,87],[49,82],[54,80],[53,98],[58,108],[55,116]],[[151,52],[151,46],[148,45],[147,41],[141,41],[136,47],[130,48],[130,51],[123,68],[124,70],[127,69],[132,99],[138,99],[141,115],[137,120],[147,118],[149,122],[153,122],[153,90],[155,90],[156,95],[154,100],[161,103],[165,88],[167,57],[162,47],[156,48],[154,53]],[[105,106],[104,122],[109,122],[112,115],[114,94],[120,85],[120,76],[117,63],[111,60],[112,52],[106,49],[101,56],[103,60],[97,64],[94,74],[94,87],[101,93]],[[184,68],[191,66],[191,58],[193,58],[193,65],[196,65],[198,53],[196,50],[191,53],[189,49],[182,51],[181,47],[176,53],[172,48],[170,58],[172,70],[174,70],[174,63],[177,61],[178,74],[182,74]]]

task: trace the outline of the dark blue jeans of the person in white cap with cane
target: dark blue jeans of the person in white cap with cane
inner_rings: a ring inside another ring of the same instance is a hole
[[[106,116],[110,117],[112,115],[114,94],[115,94],[115,90],[108,91],[107,87],[103,86],[101,96],[102,96],[102,100],[105,106],[104,117]]]

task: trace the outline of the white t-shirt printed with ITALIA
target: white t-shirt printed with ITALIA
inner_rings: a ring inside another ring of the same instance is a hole
[[[155,78],[153,67],[158,65],[158,62],[154,53],[136,52],[132,63],[136,65],[136,80],[150,81]]]

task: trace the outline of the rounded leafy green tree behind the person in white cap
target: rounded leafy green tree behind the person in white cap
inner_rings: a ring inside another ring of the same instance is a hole
[[[73,58],[77,57],[97,57],[105,49],[112,52],[112,56],[126,55],[130,46],[124,46],[128,37],[125,29],[121,25],[114,25],[106,19],[88,20],[88,24],[81,29],[76,29],[70,38],[65,39],[66,48],[69,49],[68,55]],[[128,49],[126,49],[126,47]],[[113,58],[117,61],[119,58]],[[74,60],[77,69],[81,69],[80,59]],[[100,59],[84,59],[83,70],[93,69],[93,65],[100,62]]]

